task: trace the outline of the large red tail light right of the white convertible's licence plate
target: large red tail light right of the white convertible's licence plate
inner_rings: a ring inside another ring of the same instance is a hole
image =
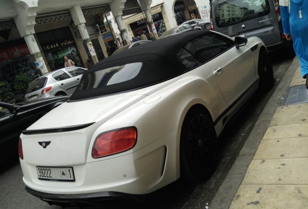
[[[137,142],[137,129],[127,127],[99,135],[92,149],[92,157],[100,158],[132,149]]]

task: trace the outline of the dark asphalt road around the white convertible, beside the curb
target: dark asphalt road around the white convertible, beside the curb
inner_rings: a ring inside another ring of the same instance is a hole
[[[180,180],[148,196],[142,203],[106,204],[104,209],[205,209],[213,201],[219,187],[237,159],[246,139],[256,125],[264,106],[285,75],[293,59],[281,54],[270,55],[275,86],[268,93],[257,93],[243,108],[242,113],[219,138],[219,163],[214,175],[207,181],[185,183]],[[262,137],[262,135],[260,135]],[[22,172],[17,160],[0,165],[0,209],[61,209],[49,206],[28,194],[22,181]],[[211,208],[210,208],[211,209]]]

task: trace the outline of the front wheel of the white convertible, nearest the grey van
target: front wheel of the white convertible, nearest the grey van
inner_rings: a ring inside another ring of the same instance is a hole
[[[259,89],[269,91],[274,86],[274,73],[271,60],[265,48],[261,48],[258,60]]]

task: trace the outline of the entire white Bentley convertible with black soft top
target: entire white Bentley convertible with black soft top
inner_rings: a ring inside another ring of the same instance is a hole
[[[133,47],[87,70],[70,99],[23,131],[26,190],[49,204],[137,199],[216,168],[217,136],[273,68],[257,37],[210,30]]]

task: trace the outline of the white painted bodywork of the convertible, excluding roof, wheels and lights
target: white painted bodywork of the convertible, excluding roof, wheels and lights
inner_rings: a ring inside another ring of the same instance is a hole
[[[239,49],[231,47],[222,56],[152,86],[60,105],[27,131],[92,125],[67,132],[21,134],[23,181],[32,190],[46,194],[148,194],[179,179],[181,130],[188,111],[193,106],[205,107],[219,136],[258,88],[261,46],[261,39],[251,37]],[[217,68],[222,70],[216,74]],[[137,129],[134,147],[92,157],[100,134],[125,127]],[[38,143],[46,141],[51,142],[46,149]],[[73,167],[75,181],[39,180],[36,166]]]

